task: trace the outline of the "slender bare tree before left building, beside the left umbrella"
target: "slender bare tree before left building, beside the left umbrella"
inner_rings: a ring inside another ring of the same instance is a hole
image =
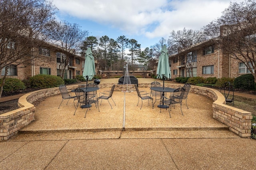
[[[54,24],[52,29],[52,41],[58,45],[62,51],[59,63],[60,77],[64,79],[66,67],[70,60],[79,54],[80,47],[88,36],[88,31],[80,29],[77,23],[68,23],[67,21],[60,21]]]

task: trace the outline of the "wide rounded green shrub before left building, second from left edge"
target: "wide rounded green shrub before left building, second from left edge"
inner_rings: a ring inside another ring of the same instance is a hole
[[[60,86],[60,84],[64,84],[64,80],[54,75],[38,74],[30,77],[30,84],[32,88],[53,88]]]

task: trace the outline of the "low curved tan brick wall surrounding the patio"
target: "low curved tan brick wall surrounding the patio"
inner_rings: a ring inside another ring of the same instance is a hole
[[[100,88],[111,88],[113,83],[101,83],[99,86]],[[165,86],[178,88],[180,84],[166,83]],[[78,85],[67,86],[69,91],[77,87]],[[122,87],[122,84],[116,84],[115,90],[121,91]],[[139,83],[139,88],[149,87],[150,83]],[[252,113],[225,105],[225,98],[218,90],[191,86],[190,92],[211,98],[214,101],[212,104],[213,118],[227,125],[230,131],[233,131],[240,137],[251,136]],[[18,134],[19,129],[34,121],[34,113],[36,108],[31,103],[42,98],[47,98],[58,94],[60,94],[60,90],[58,88],[49,88],[31,92],[22,96],[18,100],[18,106],[20,107],[19,109],[0,115],[0,140],[10,139],[14,135]]]

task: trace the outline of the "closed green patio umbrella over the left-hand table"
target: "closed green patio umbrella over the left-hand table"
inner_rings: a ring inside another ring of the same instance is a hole
[[[83,72],[83,77],[86,79],[86,88],[87,88],[88,80],[92,80],[94,75],[95,75],[94,57],[92,55],[91,48],[88,47],[85,54],[84,72]]]

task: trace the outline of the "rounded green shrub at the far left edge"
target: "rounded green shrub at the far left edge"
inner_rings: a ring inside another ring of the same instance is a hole
[[[2,84],[2,78],[0,79],[0,84]],[[24,90],[26,86],[18,78],[6,78],[4,82],[3,92],[18,92],[19,90]]]

